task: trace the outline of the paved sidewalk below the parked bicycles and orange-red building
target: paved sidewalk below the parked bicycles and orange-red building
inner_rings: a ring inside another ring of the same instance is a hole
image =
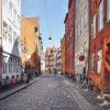
[[[76,97],[82,110],[110,110],[110,106],[100,106],[100,103],[102,103],[103,100],[97,99],[96,90],[82,89],[79,82],[73,81],[69,78],[67,79],[73,84],[73,95]]]

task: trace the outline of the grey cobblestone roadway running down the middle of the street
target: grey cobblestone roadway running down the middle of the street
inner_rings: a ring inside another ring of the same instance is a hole
[[[43,75],[26,89],[0,101],[0,110],[81,110],[72,84],[57,75]]]

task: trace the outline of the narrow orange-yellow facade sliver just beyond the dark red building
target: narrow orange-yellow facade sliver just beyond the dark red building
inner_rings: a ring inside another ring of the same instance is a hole
[[[65,74],[65,36],[62,41],[62,72]]]

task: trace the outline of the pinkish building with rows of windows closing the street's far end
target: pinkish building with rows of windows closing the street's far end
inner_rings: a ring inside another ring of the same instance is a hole
[[[45,73],[56,74],[56,53],[57,48],[55,46],[47,47],[45,53]]]

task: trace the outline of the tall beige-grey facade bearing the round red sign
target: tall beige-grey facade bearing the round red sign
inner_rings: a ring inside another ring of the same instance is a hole
[[[89,1],[76,0],[75,3],[75,74],[88,73],[89,50]],[[80,61],[80,57],[84,57]]]

